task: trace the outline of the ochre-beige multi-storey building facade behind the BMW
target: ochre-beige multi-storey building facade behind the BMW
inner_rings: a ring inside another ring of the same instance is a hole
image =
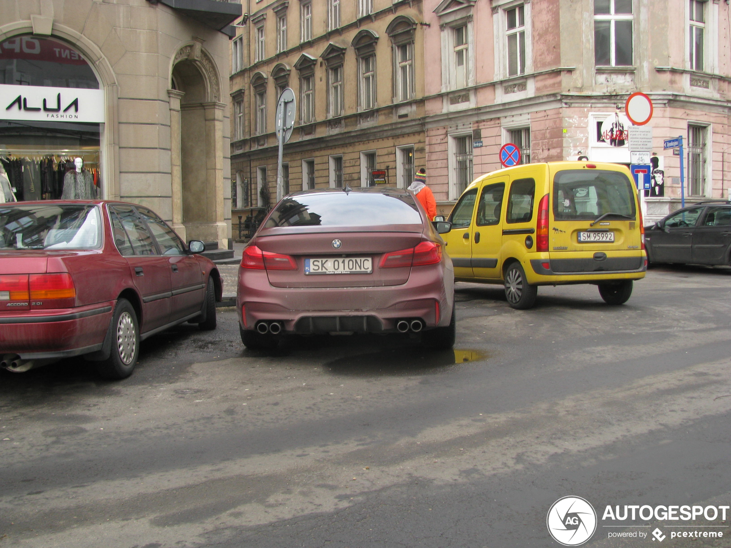
[[[297,115],[280,195],[412,183],[425,166],[422,7],[249,1],[231,43],[234,229],[238,216],[255,217],[276,201],[276,103],[288,87]]]

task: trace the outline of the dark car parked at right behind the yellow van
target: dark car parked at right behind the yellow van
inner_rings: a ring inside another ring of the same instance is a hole
[[[731,202],[700,202],[645,227],[651,263],[731,265]]]

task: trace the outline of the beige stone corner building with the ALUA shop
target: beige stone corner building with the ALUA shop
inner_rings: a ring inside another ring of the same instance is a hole
[[[189,0],[184,8],[173,0],[0,2],[0,161],[19,197],[60,197],[64,170],[80,157],[97,197],[146,205],[181,237],[227,248],[224,33],[241,7]]]

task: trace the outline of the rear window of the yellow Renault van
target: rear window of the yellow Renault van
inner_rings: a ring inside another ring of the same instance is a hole
[[[553,216],[557,221],[635,218],[635,185],[624,173],[564,170],[553,179]]]

